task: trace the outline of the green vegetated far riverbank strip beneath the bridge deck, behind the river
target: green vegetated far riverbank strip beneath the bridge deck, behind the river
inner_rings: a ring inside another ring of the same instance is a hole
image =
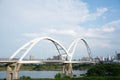
[[[74,70],[88,70],[93,64],[73,64]],[[23,64],[20,70],[61,70],[62,64]],[[6,66],[1,65],[0,71],[6,71]]]

